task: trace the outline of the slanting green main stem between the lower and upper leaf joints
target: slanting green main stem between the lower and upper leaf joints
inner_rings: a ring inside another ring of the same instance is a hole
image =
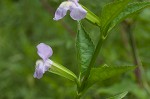
[[[90,75],[91,68],[92,68],[92,67],[94,66],[94,64],[95,64],[95,61],[96,61],[96,59],[97,59],[97,57],[98,57],[98,54],[99,54],[99,52],[100,52],[100,49],[101,49],[101,47],[102,47],[102,45],[103,45],[103,41],[104,41],[104,37],[103,37],[103,33],[101,33],[101,34],[100,34],[100,39],[99,39],[99,41],[98,41],[98,44],[97,44],[97,46],[96,46],[96,49],[95,49],[94,54],[93,54],[93,56],[92,56],[92,59],[91,59],[91,61],[90,61],[88,70],[87,70],[87,72],[86,72],[86,74],[85,74],[85,76],[84,76],[84,78],[83,78],[83,80],[82,80],[81,87],[80,87],[80,89],[79,89],[79,93],[82,92],[82,91],[84,90],[85,86],[86,86],[87,79],[88,79],[88,77],[89,77],[89,75]]]

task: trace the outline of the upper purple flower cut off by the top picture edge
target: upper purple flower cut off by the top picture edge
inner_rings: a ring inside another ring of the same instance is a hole
[[[79,0],[68,0],[60,4],[55,12],[54,20],[62,19],[68,10],[70,10],[70,16],[74,20],[81,20],[85,18],[87,11],[80,6]]]

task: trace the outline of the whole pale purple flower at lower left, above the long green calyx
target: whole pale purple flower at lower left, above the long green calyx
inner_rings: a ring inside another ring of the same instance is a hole
[[[34,78],[40,79],[52,65],[52,61],[49,59],[49,57],[52,56],[53,50],[50,46],[44,43],[40,43],[37,46],[37,50],[38,50],[37,53],[42,58],[42,60],[38,60],[36,62],[36,69],[33,76]]]

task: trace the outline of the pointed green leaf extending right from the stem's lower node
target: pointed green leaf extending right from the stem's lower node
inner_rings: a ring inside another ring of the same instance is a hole
[[[104,65],[99,68],[92,68],[90,76],[88,79],[87,87],[90,87],[98,81],[103,81],[111,78],[115,75],[120,75],[121,73],[127,72],[128,70],[133,70],[136,66],[107,66]]]

